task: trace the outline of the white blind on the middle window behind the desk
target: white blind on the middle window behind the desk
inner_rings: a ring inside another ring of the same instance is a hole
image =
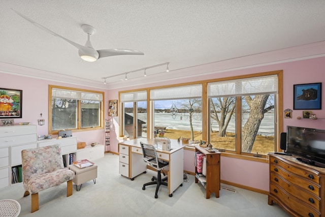
[[[150,90],[150,100],[173,100],[194,98],[202,98],[201,84]]]

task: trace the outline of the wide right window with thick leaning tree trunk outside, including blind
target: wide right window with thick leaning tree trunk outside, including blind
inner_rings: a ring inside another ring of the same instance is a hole
[[[277,76],[208,83],[211,144],[236,153],[275,147]]]

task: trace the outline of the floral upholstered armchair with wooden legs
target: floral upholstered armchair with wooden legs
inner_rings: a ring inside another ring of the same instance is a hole
[[[39,192],[67,182],[67,197],[72,195],[75,173],[63,167],[60,145],[21,151],[24,197],[31,194],[31,212],[39,210]]]

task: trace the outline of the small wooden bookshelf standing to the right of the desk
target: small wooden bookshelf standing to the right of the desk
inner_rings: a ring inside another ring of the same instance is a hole
[[[210,152],[205,147],[196,145],[196,154],[206,157],[205,172],[195,167],[195,183],[201,183],[206,190],[206,198],[209,199],[211,193],[219,197],[220,191],[220,155],[219,151]]]

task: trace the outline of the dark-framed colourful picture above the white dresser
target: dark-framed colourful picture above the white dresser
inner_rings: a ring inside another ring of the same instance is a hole
[[[0,118],[21,118],[22,90],[0,88]]]

